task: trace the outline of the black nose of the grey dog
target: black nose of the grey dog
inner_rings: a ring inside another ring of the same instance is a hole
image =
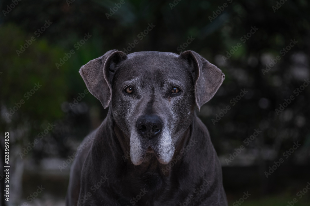
[[[162,119],[157,115],[142,115],[138,118],[136,126],[144,138],[153,138],[162,131],[162,124]]]

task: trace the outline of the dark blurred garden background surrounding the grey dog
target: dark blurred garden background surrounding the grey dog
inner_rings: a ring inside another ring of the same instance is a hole
[[[184,45],[184,50],[196,51],[226,75],[215,97],[197,115],[208,127],[221,159],[229,205],[247,191],[251,195],[242,203],[244,206],[287,205],[293,198],[298,200],[295,205],[309,205],[310,191],[300,199],[296,193],[310,181],[310,87],[298,96],[294,93],[309,78],[308,1],[124,0],[120,8],[115,7],[119,0],[13,2],[17,5],[7,0],[0,5],[2,160],[4,132],[10,132],[11,196],[7,205],[64,205],[71,163],[64,169],[59,166],[64,166],[63,161],[107,113],[91,94],[83,97],[86,86],[78,70],[110,49],[123,51],[134,40],[138,44],[130,52],[180,53],[178,47]],[[14,8],[10,11],[8,5]],[[272,6],[276,5],[279,8],[275,10]],[[106,13],[113,7],[117,11],[107,19]],[[4,14],[3,10],[9,12]],[[37,36],[36,30],[49,20],[51,25]],[[139,33],[152,23],[155,27],[141,40]],[[258,30],[248,34],[251,27]],[[88,33],[91,37],[77,50],[74,45]],[[250,37],[244,42],[241,38],[247,34]],[[30,41],[31,37],[35,41]],[[184,44],[188,37],[194,39]],[[297,43],[283,53],[291,40]],[[28,48],[17,54],[16,50],[27,42],[31,42]],[[224,62],[223,56],[233,48],[237,51],[232,50]],[[74,54],[64,58],[72,49]],[[262,69],[272,65],[278,55],[281,59],[263,74]],[[57,69],[60,58],[66,61]],[[42,86],[32,90],[38,82]],[[233,106],[233,98],[241,89],[247,93]],[[24,95],[27,92],[34,93]],[[294,99],[277,115],[275,109],[291,95]],[[78,100],[78,96],[83,98]],[[15,107],[21,99],[24,104]],[[221,109],[228,105],[231,109],[223,116]],[[7,115],[13,107],[17,111]],[[213,124],[217,115],[222,117]],[[49,123],[55,124],[51,131],[46,130]],[[261,133],[245,145],[243,140],[255,129]],[[44,130],[48,133],[40,139],[38,134]],[[35,139],[37,144],[29,147]],[[294,142],[301,145],[291,149],[286,159],[283,153]],[[245,149],[227,164],[225,159],[241,145]],[[265,171],[280,158],[284,162],[266,178]],[[0,179],[3,184],[3,172]],[[29,199],[41,185],[45,189],[34,200]]]

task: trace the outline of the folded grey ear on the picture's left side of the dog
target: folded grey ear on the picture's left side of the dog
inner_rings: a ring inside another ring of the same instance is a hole
[[[87,89],[100,100],[104,108],[107,108],[111,102],[111,81],[116,71],[116,66],[125,59],[127,59],[125,53],[116,49],[110,50],[103,56],[89,61],[79,71]]]

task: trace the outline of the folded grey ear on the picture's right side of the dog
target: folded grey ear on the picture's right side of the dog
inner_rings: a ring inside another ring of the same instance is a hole
[[[194,51],[185,51],[179,55],[185,60],[194,78],[195,102],[198,110],[207,103],[223,83],[225,75],[215,65]]]

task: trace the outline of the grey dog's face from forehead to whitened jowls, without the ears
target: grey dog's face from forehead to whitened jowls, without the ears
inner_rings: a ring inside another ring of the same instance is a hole
[[[146,153],[172,159],[178,136],[190,125],[195,108],[193,76],[178,55],[139,52],[128,55],[112,83],[114,120],[130,137],[130,156],[139,165]]]

